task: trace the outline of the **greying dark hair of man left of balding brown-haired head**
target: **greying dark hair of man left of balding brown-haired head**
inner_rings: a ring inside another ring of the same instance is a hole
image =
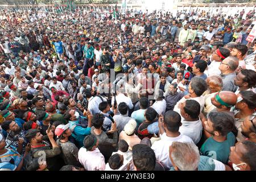
[[[190,82],[191,89],[200,97],[207,90],[207,82],[200,77],[193,77]]]

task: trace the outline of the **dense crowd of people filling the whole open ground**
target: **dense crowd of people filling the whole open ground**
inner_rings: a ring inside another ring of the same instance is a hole
[[[0,170],[256,170],[255,11],[104,12],[1,11]]]

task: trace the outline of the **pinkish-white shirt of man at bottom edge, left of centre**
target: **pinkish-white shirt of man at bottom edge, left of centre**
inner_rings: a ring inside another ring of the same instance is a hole
[[[104,171],[105,169],[105,158],[98,148],[94,151],[87,151],[82,147],[79,150],[78,158],[86,171]]]

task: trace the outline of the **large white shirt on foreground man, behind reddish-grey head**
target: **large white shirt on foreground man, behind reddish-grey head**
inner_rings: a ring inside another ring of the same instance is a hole
[[[152,150],[155,152],[156,160],[160,162],[164,167],[171,168],[172,163],[169,158],[169,147],[172,145],[172,142],[193,142],[193,140],[183,134],[180,134],[179,137],[167,137],[166,133],[163,133],[161,139],[155,141],[152,145]]]

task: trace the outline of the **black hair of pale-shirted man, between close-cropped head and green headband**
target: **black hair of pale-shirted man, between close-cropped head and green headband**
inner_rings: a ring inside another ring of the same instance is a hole
[[[195,100],[186,100],[184,111],[191,117],[191,119],[197,119],[200,114],[201,106],[200,104]]]

